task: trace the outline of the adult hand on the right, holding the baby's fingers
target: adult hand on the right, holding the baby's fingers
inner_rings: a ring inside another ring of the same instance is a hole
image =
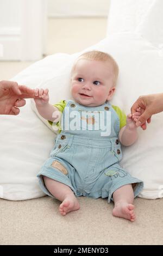
[[[141,115],[135,119],[136,126],[146,130],[146,121],[150,123],[153,114],[163,111],[163,93],[140,96],[131,107],[131,114],[134,115],[138,108],[141,109]]]

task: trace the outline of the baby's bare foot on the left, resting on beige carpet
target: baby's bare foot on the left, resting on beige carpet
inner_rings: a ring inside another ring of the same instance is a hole
[[[79,210],[80,205],[76,197],[67,197],[65,200],[60,204],[59,211],[61,215],[66,215],[70,211]]]

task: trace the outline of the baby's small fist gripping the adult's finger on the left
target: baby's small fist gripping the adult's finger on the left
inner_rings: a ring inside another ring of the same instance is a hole
[[[48,89],[39,89],[39,88],[36,88],[35,89],[35,103],[37,106],[42,106],[46,103],[49,102],[49,94],[48,94]]]

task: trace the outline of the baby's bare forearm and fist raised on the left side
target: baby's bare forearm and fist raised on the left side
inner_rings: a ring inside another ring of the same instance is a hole
[[[61,117],[61,112],[58,110],[57,107],[49,104],[49,95],[48,89],[35,89],[35,104],[37,111],[39,114],[49,120],[49,121],[58,121]]]

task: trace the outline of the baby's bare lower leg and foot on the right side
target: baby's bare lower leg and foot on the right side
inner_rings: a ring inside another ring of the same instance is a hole
[[[124,185],[118,188],[113,193],[114,209],[112,215],[116,217],[126,218],[130,221],[135,221],[134,214],[134,191],[131,184]]]

